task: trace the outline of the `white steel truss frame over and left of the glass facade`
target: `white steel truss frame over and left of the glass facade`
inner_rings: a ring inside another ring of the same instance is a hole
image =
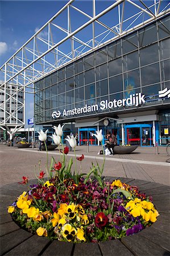
[[[77,2],[68,1],[0,68],[0,77],[4,81],[0,93],[5,94],[5,100],[0,104],[0,111],[4,112],[1,127],[25,125],[25,95],[34,93],[35,81],[170,12],[170,3],[161,8],[163,0],[115,0],[99,13],[97,5],[100,1],[92,0],[86,2],[92,5],[90,14],[77,7]],[[130,7],[135,9],[134,14],[130,13]],[[107,19],[111,12],[116,17],[113,20]],[[64,22],[60,24],[62,15]],[[73,23],[75,15],[78,20],[80,16],[84,17],[83,22]],[[88,35],[87,40],[85,35]],[[23,102],[19,101],[19,92],[23,93]],[[7,110],[7,104],[12,102],[15,102],[13,113]],[[23,111],[23,120],[18,118],[19,110]]]

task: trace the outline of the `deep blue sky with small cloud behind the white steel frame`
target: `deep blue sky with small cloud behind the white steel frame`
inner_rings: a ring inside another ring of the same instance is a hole
[[[0,0],[0,67],[3,65],[28,39],[31,38],[35,32],[42,27],[53,15],[57,13],[68,1],[2,1]],[[96,6],[96,13],[101,12],[107,6],[115,1],[98,0]],[[150,5],[154,1],[144,1]],[[141,3],[136,1],[139,5]],[[161,8],[166,5],[168,1],[161,3]],[[127,3],[126,3],[127,4]],[[77,7],[81,7],[86,13],[89,10],[92,14],[92,0],[79,1],[74,3]],[[89,7],[91,6],[91,7]],[[135,7],[134,7],[135,8]],[[133,14],[133,8],[126,7],[128,15]],[[153,10],[154,11],[154,10]],[[127,14],[125,13],[125,16]],[[105,16],[103,22],[110,26],[110,22],[117,15],[112,15],[108,18]],[[73,26],[81,22],[81,18],[73,17]],[[60,24],[67,22],[66,19],[60,19]],[[83,33],[84,31],[81,31]],[[86,33],[84,33],[86,36]],[[34,98],[30,94],[26,97],[26,120],[32,118]]]

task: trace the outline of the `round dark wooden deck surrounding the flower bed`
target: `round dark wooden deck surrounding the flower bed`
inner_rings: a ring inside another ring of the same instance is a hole
[[[161,170],[160,170],[161,171]],[[105,177],[105,180],[118,177]],[[154,204],[160,213],[158,220],[138,234],[121,240],[99,243],[69,243],[49,241],[48,238],[35,236],[20,229],[7,213],[7,207],[24,191],[24,186],[13,183],[0,189],[1,195],[1,255],[48,255],[48,256],[128,256],[128,255],[170,255],[170,187],[144,180],[121,178],[121,181],[138,185],[140,192],[146,192],[154,199]],[[32,180],[34,184],[36,180]]]

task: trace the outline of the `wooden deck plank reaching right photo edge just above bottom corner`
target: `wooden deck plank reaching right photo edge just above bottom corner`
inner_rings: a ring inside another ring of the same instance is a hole
[[[169,230],[170,231],[170,230]],[[148,240],[156,243],[163,249],[170,251],[170,236],[169,234],[162,232],[161,230],[154,229],[153,226],[150,228],[143,229],[139,234]]]

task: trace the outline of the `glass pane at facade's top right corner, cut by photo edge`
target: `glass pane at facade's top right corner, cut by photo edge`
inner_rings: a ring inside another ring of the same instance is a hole
[[[169,33],[169,16],[165,17],[164,19],[159,20],[158,22],[158,33],[159,39],[167,38],[170,35]]]

